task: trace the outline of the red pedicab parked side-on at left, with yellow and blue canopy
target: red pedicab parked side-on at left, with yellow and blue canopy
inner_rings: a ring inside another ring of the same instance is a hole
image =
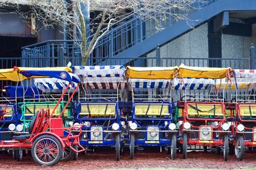
[[[61,114],[65,111],[74,96],[78,86],[71,94],[70,98],[65,104],[59,117],[52,118],[54,111],[58,108],[58,104],[65,96],[68,87],[72,82],[80,83],[77,76],[68,73],[67,71],[49,71],[49,68],[31,68],[31,67],[14,67],[13,69],[1,69],[0,79],[11,81],[26,81],[31,78],[58,78],[68,81],[68,86],[63,91],[60,99],[56,103],[56,106],[50,111],[47,109],[38,109],[35,117],[31,120],[28,132],[15,131],[17,126],[10,124],[8,126],[11,138],[1,139],[0,148],[15,150],[14,158],[16,160],[22,159],[22,150],[31,150],[33,160],[37,164],[45,166],[53,166],[63,157],[63,151],[65,148],[70,148],[73,152],[83,152],[83,146],[79,145],[79,134],[72,134],[72,129],[80,129],[83,125],[75,125],[72,127],[63,127],[63,120]],[[79,146],[79,149],[75,148]]]

